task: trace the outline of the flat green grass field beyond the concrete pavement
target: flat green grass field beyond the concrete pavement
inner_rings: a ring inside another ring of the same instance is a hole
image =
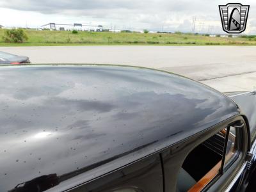
[[[190,33],[111,33],[79,31],[26,30],[28,41],[23,44],[5,43],[0,29],[0,46],[51,45],[256,45],[256,38],[211,37]]]

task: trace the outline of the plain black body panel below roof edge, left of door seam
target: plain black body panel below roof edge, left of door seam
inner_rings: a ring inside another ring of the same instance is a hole
[[[130,189],[127,191],[127,189]],[[91,180],[72,192],[161,192],[163,173],[159,154],[145,157],[138,162],[124,166],[100,178]]]

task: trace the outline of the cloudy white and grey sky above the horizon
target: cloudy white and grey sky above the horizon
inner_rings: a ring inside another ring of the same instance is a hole
[[[103,25],[108,29],[222,33],[218,5],[249,4],[246,31],[256,33],[256,1],[220,0],[1,0],[0,24],[39,28],[49,22]]]

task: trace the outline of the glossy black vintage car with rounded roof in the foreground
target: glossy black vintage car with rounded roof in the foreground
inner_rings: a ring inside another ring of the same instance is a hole
[[[255,92],[120,66],[0,77],[0,191],[255,191]]]

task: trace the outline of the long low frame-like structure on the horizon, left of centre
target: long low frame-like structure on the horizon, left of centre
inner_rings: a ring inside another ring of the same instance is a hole
[[[84,25],[79,23],[74,24],[56,24],[50,22],[41,26],[42,29],[57,30],[57,31],[102,31],[102,26]]]

